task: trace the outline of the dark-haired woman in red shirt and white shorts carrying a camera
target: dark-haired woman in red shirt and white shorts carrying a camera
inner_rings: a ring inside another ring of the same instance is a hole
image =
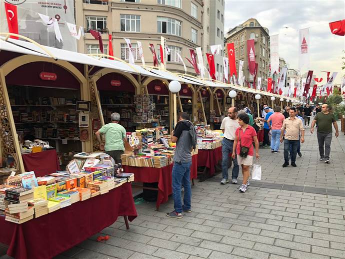
[[[252,165],[254,155],[252,142],[255,144],[256,159],[259,158],[259,143],[257,140],[256,131],[253,127],[248,125],[249,116],[246,113],[240,113],[237,118],[240,127],[236,129],[236,139],[233,142],[232,158],[234,159],[235,155],[237,155],[237,162],[242,167],[243,181],[239,187],[239,191],[245,192],[249,185],[249,167]],[[247,147],[249,149],[246,157],[239,155],[241,147]]]

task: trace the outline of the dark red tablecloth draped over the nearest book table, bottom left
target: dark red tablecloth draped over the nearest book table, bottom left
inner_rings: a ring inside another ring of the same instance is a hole
[[[51,258],[96,234],[118,216],[132,221],[136,210],[130,183],[22,224],[0,216],[0,242],[15,258]]]

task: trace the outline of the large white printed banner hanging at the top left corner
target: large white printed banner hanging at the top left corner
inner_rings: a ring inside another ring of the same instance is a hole
[[[76,52],[76,39],[70,37],[66,25],[66,22],[75,24],[73,0],[49,0],[48,2],[39,0],[5,0],[5,2],[17,7],[18,33],[20,35],[44,46]],[[3,3],[4,1],[0,1],[0,32],[8,32]],[[60,35],[56,25],[51,28],[44,26],[38,14],[56,19]]]

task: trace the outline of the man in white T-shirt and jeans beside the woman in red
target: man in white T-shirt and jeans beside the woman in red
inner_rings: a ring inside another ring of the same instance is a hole
[[[242,112],[245,114],[245,112]],[[227,173],[227,166],[229,160],[229,153],[232,152],[233,149],[233,142],[235,140],[235,132],[236,129],[239,127],[237,121],[237,109],[235,107],[231,107],[228,109],[227,115],[221,122],[220,129],[224,134],[224,138],[221,142],[221,152],[222,152],[222,161],[221,161],[221,174],[222,180],[220,184],[228,183],[228,173]],[[239,167],[237,164],[237,158],[232,159],[233,167],[232,167],[232,174],[231,174],[231,183],[237,184],[237,177]]]

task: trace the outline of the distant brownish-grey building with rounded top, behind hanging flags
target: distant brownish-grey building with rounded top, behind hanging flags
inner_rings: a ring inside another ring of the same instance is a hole
[[[244,61],[243,76],[249,83],[253,82],[253,76],[249,75],[246,41],[253,39],[255,42],[255,63],[257,63],[257,76],[261,77],[261,89],[267,86],[269,75],[269,31],[262,27],[259,22],[250,18],[244,23],[230,29],[224,40],[227,43],[234,43],[236,68],[239,60]],[[225,50],[226,54],[226,50]]]

